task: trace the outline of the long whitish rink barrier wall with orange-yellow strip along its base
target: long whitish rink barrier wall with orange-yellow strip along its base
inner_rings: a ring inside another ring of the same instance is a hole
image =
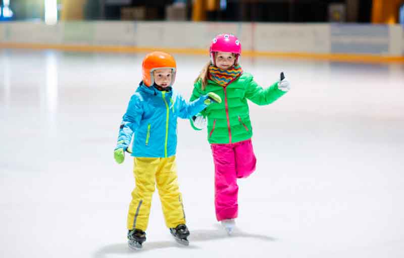
[[[212,22],[0,23],[0,47],[208,55],[210,40],[237,35],[243,56],[343,62],[404,62],[400,25]]]

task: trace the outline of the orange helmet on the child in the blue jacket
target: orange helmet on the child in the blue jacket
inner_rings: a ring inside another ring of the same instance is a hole
[[[175,59],[170,54],[159,51],[149,53],[144,57],[142,62],[143,83],[148,87],[153,85],[155,83],[153,71],[161,68],[171,69],[172,80],[170,86],[173,85],[177,70]]]

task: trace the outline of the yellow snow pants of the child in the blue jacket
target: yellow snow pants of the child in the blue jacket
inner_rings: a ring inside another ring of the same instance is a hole
[[[128,229],[146,231],[150,214],[151,196],[155,185],[159,190],[163,214],[168,228],[185,224],[182,196],[177,181],[175,156],[169,158],[134,158],[133,174],[136,181],[129,204]]]

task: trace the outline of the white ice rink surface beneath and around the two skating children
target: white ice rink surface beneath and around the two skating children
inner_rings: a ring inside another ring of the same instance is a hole
[[[2,257],[404,257],[404,65],[242,58],[268,86],[250,103],[257,171],[239,180],[226,235],[214,212],[206,130],[179,120],[178,176],[190,245],[154,195],[143,250],[126,243],[133,160],[113,159],[144,54],[0,50]],[[189,97],[208,57],[174,55]]]

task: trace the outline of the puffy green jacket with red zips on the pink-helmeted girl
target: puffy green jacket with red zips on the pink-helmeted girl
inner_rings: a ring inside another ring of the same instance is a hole
[[[254,81],[252,75],[243,73],[226,87],[208,80],[205,90],[201,89],[201,80],[194,84],[190,101],[208,92],[215,92],[222,98],[220,104],[214,103],[201,112],[208,117],[209,143],[235,143],[252,136],[247,99],[257,105],[268,105],[285,94],[278,89],[278,82],[263,89]],[[191,125],[196,129],[191,120]]]

